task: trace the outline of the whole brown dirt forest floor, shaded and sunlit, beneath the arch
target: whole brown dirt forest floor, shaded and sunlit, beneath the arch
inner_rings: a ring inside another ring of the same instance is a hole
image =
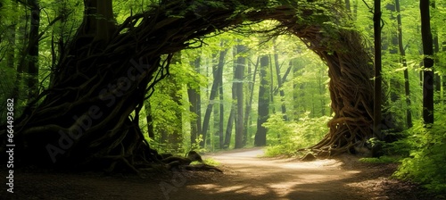
[[[394,163],[364,163],[353,155],[302,162],[261,154],[262,149],[251,148],[202,156],[220,162],[223,173],[158,171],[136,176],[19,169],[14,171],[13,194],[2,184],[0,199],[435,199],[422,187],[389,178],[397,168]],[[0,172],[7,176],[5,169]]]

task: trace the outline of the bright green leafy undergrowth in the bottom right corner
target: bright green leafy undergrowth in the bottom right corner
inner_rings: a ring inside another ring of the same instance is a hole
[[[439,112],[435,112],[433,125],[417,121],[404,132],[408,137],[402,142],[410,146],[410,154],[402,159],[393,176],[423,184],[434,193],[446,194],[446,109],[440,107],[435,110]]]

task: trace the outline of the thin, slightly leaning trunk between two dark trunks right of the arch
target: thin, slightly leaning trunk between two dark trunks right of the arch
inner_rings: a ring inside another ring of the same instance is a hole
[[[397,21],[398,21],[398,46],[400,48],[400,54],[401,54],[401,63],[402,66],[405,68],[404,70],[404,91],[406,92],[406,125],[408,128],[411,128],[413,126],[412,124],[412,113],[410,112],[410,87],[409,87],[409,70],[408,70],[408,63],[406,62],[406,50],[404,49],[404,46],[402,45],[402,29],[401,29],[401,9],[400,9],[400,0],[395,0],[395,8],[397,14]]]

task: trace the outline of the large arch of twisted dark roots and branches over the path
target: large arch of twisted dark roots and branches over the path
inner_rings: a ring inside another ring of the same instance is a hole
[[[138,124],[146,96],[169,74],[174,53],[244,21],[279,21],[269,33],[293,33],[328,64],[335,117],[313,151],[340,154],[371,137],[373,68],[359,34],[334,4],[166,2],[115,26],[111,4],[86,1],[86,17],[50,88],[15,126],[21,162],[109,171],[156,162]]]

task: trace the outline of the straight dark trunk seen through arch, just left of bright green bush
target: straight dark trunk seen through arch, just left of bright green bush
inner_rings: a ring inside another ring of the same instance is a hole
[[[260,86],[259,86],[259,116],[257,119],[257,132],[254,138],[254,146],[267,145],[267,129],[262,126],[268,120],[269,112],[269,83],[267,80],[267,71],[269,66],[268,55],[260,58]]]

